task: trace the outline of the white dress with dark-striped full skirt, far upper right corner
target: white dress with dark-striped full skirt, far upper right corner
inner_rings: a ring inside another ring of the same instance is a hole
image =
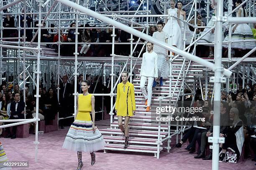
[[[243,8],[241,9],[241,17],[243,17]],[[238,10],[236,12],[238,16]],[[232,30],[235,25],[233,25]],[[231,41],[241,41],[236,43],[231,43],[231,48],[240,48],[243,50],[253,49],[256,46],[255,41],[246,41],[245,40],[254,40],[252,30],[250,26],[246,23],[238,24],[236,30],[231,34]],[[224,41],[229,41],[228,35],[225,37]],[[223,44],[225,48],[228,48],[228,44]]]

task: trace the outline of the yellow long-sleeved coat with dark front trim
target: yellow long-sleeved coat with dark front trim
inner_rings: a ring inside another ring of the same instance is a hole
[[[115,109],[118,116],[133,116],[133,110],[136,110],[135,94],[134,86],[129,81],[126,84],[118,84]]]

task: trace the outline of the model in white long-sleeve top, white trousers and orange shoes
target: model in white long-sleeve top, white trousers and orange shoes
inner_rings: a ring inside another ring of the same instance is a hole
[[[149,112],[151,110],[150,105],[151,105],[152,86],[153,86],[154,78],[157,79],[158,77],[158,64],[157,64],[158,57],[157,57],[157,54],[152,49],[153,48],[152,43],[148,42],[146,44],[146,47],[148,51],[146,53],[143,53],[143,56],[142,56],[140,88],[146,100],[145,101],[145,105],[147,106],[146,112]],[[147,79],[148,79],[148,86],[147,86],[148,93],[145,88]]]

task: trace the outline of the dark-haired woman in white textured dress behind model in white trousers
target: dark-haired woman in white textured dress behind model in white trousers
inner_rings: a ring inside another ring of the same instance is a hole
[[[168,34],[163,31],[163,28],[164,28],[164,23],[158,22],[157,23],[158,31],[153,33],[153,38],[155,38],[158,41],[167,43]],[[170,62],[168,58],[168,50],[158,45],[154,45],[153,50],[157,54],[157,58],[158,58],[157,63],[158,63],[158,69],[159,69],[160,86],[163,86],[163,78],[168,79],[168,76],[170,74]],[[156,83],[153,84],[153,87],[155,86],[156,86]]]

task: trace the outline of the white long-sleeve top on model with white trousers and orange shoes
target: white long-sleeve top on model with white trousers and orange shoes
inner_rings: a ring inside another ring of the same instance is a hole
[[[154,51],[143,53],[140,76],[158,77],[157,66],[157,54]]]

